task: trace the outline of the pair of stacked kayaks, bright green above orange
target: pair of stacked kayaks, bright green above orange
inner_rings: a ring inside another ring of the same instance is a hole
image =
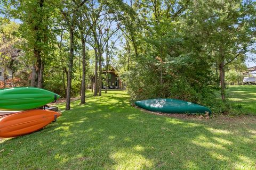
[[[0,90],[0,110],[6,112],[0,117],[0,138],[29,134],[56,121],[60,113],[37,108],[58,98],[51,91],[32,87]]]

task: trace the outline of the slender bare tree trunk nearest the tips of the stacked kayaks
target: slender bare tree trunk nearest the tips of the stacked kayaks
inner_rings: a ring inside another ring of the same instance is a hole
[[[74,23],[71,23],[69,28],[70,34],[70,54],[68,63],[68,83],[67,83],[67,103],[66,111],[70,110],[70,98],[71,98],[71,83],[72,83],[72,73],[73,73],[73,60],[74,60]]]

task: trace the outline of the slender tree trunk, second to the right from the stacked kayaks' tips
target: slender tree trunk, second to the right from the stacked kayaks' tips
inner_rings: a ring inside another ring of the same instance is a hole
[[[85,78],[86,78],[86,52],[85,52],[85,40],[84,35],[81,33],[81,43],[82,43],[82,65],[83,65],[83,75],[81,84],[81,105],[85,104]]]

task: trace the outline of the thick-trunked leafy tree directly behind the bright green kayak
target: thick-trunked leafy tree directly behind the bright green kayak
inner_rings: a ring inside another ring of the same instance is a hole
[[[49,0],[4,1],[5,14],[21,21],[21,36],[27,40],[25,52],[33,55],[31,83],[33,87],[43,87],[44,63],[51,51],[51,40],[55,3]],[[32,53],[31,53],[32,52]]]

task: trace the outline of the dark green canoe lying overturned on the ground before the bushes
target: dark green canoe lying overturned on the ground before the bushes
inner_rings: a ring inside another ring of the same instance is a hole
[[[211,110],[207,107],[177,99],[148,99],[136,101],[135,105],[153,112],[163,113],[205,113]]]

